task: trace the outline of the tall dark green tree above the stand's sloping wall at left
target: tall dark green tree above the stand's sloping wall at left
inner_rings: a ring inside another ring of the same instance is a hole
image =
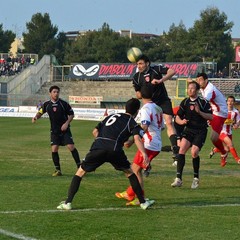
[[[26,23],[26,28],[27,32],[23,33],[25,52],[36,53],[39,58],[54,53],[58,28],[52,25],[48,13],[34,14],[31,21]]]

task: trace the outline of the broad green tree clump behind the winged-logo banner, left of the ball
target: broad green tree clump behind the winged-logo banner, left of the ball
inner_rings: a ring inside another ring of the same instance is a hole
[[[68,64],[126,62],[129,45],[128,37],[121,37],[104,23],[98,31],[86,32],[83,36],[79,36],[77,41],[67,44],[64,61]]]

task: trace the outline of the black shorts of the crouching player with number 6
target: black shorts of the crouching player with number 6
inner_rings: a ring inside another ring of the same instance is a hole
[[[130,168],[130,162],[124,151],[108,151],[102,149],[91,150],[82,162],[82,169],[86,172],[95,171],[105,162],[111,163],[112,166],[119,171]]]

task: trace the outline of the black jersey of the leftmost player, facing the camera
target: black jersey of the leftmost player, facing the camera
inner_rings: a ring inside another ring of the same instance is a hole
[[[57,102],[52,102],[51,100],[44,102],[39,113],[44,114],[46,112],[51,122],[51,131],[54,134],[61,133],[61,127],[68,120],[68,116],[74,115],[69,103],[61,98]]]

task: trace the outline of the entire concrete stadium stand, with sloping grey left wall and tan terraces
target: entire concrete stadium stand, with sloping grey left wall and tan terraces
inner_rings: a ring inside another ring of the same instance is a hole
[[[39,100],[49,98],[48,89],[51,85],[61,88],[61,97],[69,101],[69,96],[100,97],[101,103],[89,102],[74,103],[74,107],[123,108],[126,100],[135,97],[131,80],[73,80],[65,78],[68,72],[64,66],[54,64],[54,58],[45,55],[37,64],[24,69],[20,74],[8,77],[8,81],[0,78],[0,105],[1,106],[36,106]],[[55,66],[57,65],[57,67]],[[68,69],[70,67],[68,66]],[[13,77],[13,79],[12,79]],[[240,79],[210,78],[227,97],[240,96]],[[172,99],[173,106],[186,96],[186,79],[174,79],[165,82],[167,91]]]

